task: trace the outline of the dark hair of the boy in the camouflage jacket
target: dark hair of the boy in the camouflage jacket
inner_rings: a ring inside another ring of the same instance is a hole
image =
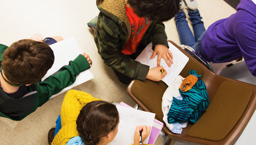
[[[181,0],[127,0],[134,13],[148,20],[165,22],[180,11]]]

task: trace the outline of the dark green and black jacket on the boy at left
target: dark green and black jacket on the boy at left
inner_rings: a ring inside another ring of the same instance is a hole
[[[6,45],[0,44],[0,62],[2,62],[2,55],[7,48]],[[76,76],[89,68],[89,62],[80,54],[76,59],[70,61],[69,65],[61,67],[59,71],[43,82],[29,85],[26,95],[19,99],[9,97],[0,87],[0,106],[2,107],[0,108],[0,117],[15,121],[22,120],[46,103],[52,95],[73,84]],[[22,115],[17,116],[17,114]]]

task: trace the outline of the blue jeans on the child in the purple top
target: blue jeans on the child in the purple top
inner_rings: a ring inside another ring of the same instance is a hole
[[[180,11],[174,18],[180,37],[180,43],[192,47],[208,62],[211,62],[202,53],[201,42],[206,31],[204,22],[201,21],[202,17],[200,16],[198,9],[196,11],[188,11],[188,15],[190,17],[189,20],[192,22],[195,37],[187,24],[186,14],[184,11]]]

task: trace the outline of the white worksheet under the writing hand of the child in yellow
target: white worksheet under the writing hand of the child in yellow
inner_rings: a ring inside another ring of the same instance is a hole
[[[156,114],[121,105],[117,105],[117,110],[120,120],[117,136],[107,145],[131,145],[134,143],[134,133],[137,125],[147,125],[152,128]],[[143,143],[148,143],[148,139],[149,136]]]

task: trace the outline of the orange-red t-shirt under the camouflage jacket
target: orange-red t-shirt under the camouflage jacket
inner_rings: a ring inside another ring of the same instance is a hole
[[[133,54],[137,51],[139,42],[146,33],[150,21],[145,18],[139,18],[134,14],[133,10],[127,6],[125,6],[125,9],[132,27],[132,33],[121,52],[124,54]]]

